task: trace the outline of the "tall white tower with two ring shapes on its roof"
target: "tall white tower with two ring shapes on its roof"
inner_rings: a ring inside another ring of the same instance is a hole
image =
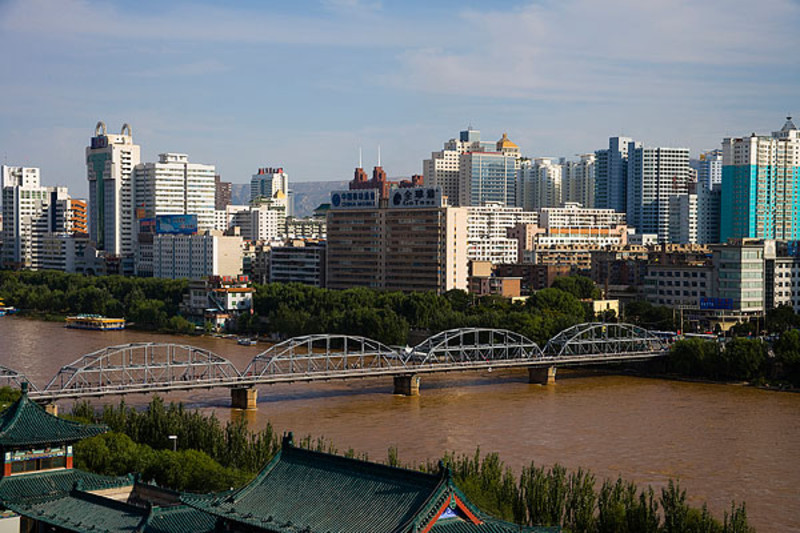
[[[105,123],[97,123],[86,148],[89,235],[98,250],[109,255],[133,256],[132,174],[140,160],[140,149],[133,144],[129,125],[123,124],[119,135],[109,135]]]

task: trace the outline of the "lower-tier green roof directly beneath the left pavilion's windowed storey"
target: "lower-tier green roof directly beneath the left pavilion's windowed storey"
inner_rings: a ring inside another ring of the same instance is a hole
[[[52,470],[0,478],[0,502],[46,495],[63,495],[78,484],[83,490],[101,490],[133,484],[130,477],[107,477],[77,469]]]

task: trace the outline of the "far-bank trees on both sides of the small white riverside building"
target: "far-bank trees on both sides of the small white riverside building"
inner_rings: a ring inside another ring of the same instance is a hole
[[[0,298],[29,314],[92,313],[125,317],[148,330],[192,333],[179,315],[186,280],[90,277],[56,271],[0,271]],[[294,337],[314,333],[365,335],[384,344],[409,342],[414,331],[461,327],[510,329],[546,343],[558,331],[591,317],[581,299],[597,295],[584,277],[559,278],[526,302],[475,297],[461,290],[386,292],[330,290],[297,283],[254,285],[254,313],[240,317],[243,333]],[[427,335],[421,335],[425,337]],[[413,340],[413,339],[412,339]]]

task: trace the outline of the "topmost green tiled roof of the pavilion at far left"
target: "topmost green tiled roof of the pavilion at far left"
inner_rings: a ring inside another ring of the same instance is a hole
[[[106,431],[106,426],[53,416],[25,393],[0,414],[0,446],[3,448],[68,444]]]

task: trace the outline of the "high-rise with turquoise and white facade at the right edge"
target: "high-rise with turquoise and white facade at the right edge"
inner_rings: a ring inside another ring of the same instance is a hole
[[[800,131],[722,141],[720,238],[800,239]]]

